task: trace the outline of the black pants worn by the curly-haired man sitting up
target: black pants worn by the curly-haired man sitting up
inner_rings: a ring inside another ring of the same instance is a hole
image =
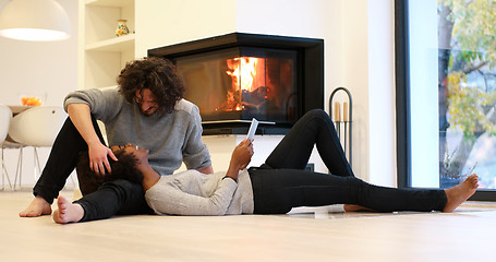
[[[105,144],[96,120],[92,120],[98,138]],[[33,188],[34,195],[40,195],[48,203],[53,203],[53,199],[59,195],[66,179],[76,167],[80,152],[87,150],[86,142],[68,118],[53,142],[41,176]],[[84,180],[80,180],[80,183],[84,183]],[[101,219],[116,214],[153,214],[145,201],[141,184],[114,180],[104,183],[98,191],[99,193],[89,193],[76,201],[85,209],[83,221]],[[93,205],[95,203],[98,205]]]

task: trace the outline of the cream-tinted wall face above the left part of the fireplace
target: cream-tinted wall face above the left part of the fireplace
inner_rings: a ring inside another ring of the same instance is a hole
[[[154,47],[235,31],[233,0],[147,0],[136,4],[135,12],[136,58]]]

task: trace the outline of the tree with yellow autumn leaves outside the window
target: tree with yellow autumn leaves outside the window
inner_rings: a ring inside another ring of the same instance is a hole
[[[496,189],[496,1],[438,0],[437,28],[439,186]]]

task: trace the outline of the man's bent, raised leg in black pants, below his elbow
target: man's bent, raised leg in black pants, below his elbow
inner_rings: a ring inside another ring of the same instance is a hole
[[[98,138],[105,144],[96,119],[92,118],[92,120]],[[35,196],[40,195],[51,204],[53,199],[59,195],[59,191],[62,190],[68,177],[74,170],[80,152],[87,150],[86,142],[68,118],[53,142],[47,164],[33,188],[33,194]]]

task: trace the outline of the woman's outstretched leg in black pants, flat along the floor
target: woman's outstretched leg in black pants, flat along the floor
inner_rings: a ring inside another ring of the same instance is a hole
[[[377,187],[355,177],[295,169],[250,170],[255,213],[285,214],[292,207],[356,204],[377,212],[443,211],[444,190]]]

